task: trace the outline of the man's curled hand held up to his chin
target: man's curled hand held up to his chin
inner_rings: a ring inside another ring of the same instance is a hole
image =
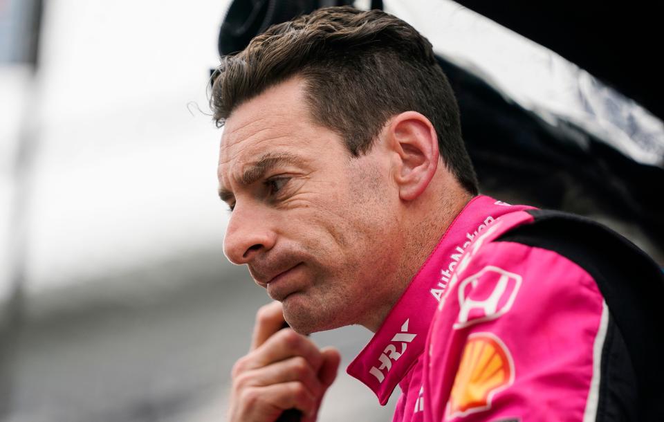
[[[341,356],[333,348],[318,349],[283,324],[281,303],[259,309],[251,349],[232,370],[230,422],[274,422],[293,407],[302,411],[302,422],[316,420]]]

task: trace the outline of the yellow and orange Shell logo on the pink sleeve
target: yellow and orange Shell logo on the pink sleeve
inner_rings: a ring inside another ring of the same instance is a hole
[[[490,409],[493,396],[513,382],[514,363],[504,342],[493,333],[472,333],[450,392],[448,418]]]

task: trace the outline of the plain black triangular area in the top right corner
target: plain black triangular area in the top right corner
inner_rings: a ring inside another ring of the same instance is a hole
[[[482,1],[457,3],[532,39],[664,118],[662,15],[656,2]],[[660,40],[660,41],[657,41]]]

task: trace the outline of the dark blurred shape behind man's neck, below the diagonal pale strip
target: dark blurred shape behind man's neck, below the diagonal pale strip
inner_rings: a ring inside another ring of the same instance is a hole
[[[638,163],[571,123],[548,125],[481,78],[439,63],[457,95],[463,138],[484,192],[625,221],[664,248],[658,196],[664,169]]]

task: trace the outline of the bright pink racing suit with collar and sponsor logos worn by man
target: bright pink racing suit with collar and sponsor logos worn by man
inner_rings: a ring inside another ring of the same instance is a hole
[[[394,421],[637,418],[638,365],[597,277],[560,251],[502,240],[533,212],[472,199],[347,368],[381,405],[400,386]]]

